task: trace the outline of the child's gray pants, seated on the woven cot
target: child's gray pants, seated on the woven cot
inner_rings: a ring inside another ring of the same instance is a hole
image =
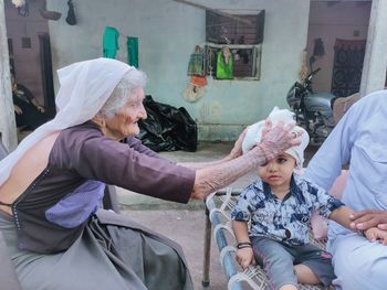
[[[307,266],[324,286],[335,279],[332,256],[311,244],[289,246],[269,237],[252,237],[257,261],[264,268],[270,289],[280,289],[285,284],[297,284],[293,265]]]

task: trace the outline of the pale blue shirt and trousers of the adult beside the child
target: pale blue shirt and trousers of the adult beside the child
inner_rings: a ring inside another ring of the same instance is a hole
[[[342,202],[354,211],[378,210],[387,218],[387,90],[351,107],[308,163],[305,178],[328,190],[348,163]],[[331,222],[327,249],[336,289],[387,288],[387,246]]]

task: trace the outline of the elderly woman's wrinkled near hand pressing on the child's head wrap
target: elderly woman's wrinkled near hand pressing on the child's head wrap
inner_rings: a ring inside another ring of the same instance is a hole
[[[263,151],[266,161],[274,159],[289,148],[301,143],[299,137],[302,135],[302,131],[291,132],[294,126],[295,122],[284,126],[283,121],[280,121],[272,128],[272,122],[269,119],[265,120],[261,142],[258,147]]]

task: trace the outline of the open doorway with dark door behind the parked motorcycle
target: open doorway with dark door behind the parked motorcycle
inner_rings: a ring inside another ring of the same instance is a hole
[[[370,0],[311,1],[307,60],[314,56],[316,43],[324,47],[324,53],[314,57],[314,69],[321,67],[313,78],[315,92],[336,96],[358,92],[370,8]],[[347,49],[346,44],[352,46]]]

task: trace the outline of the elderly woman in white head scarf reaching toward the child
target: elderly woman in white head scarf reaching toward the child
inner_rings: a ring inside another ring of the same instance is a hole
[[[299,143],[266,125],[240,154],[189,169],[134,137],[144,73],[98,58],[59,71],[59,112],[0,163],[0,229],[23,289],[192,289],[178,245],[127,217],[97,211],[105,183],[187,203],[203,198]]]

